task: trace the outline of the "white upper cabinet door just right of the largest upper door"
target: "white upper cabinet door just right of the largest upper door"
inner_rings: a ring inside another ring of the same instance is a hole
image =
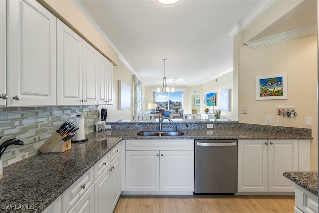
[[[57,104],[81,105],[82,38],[57,20]]]

